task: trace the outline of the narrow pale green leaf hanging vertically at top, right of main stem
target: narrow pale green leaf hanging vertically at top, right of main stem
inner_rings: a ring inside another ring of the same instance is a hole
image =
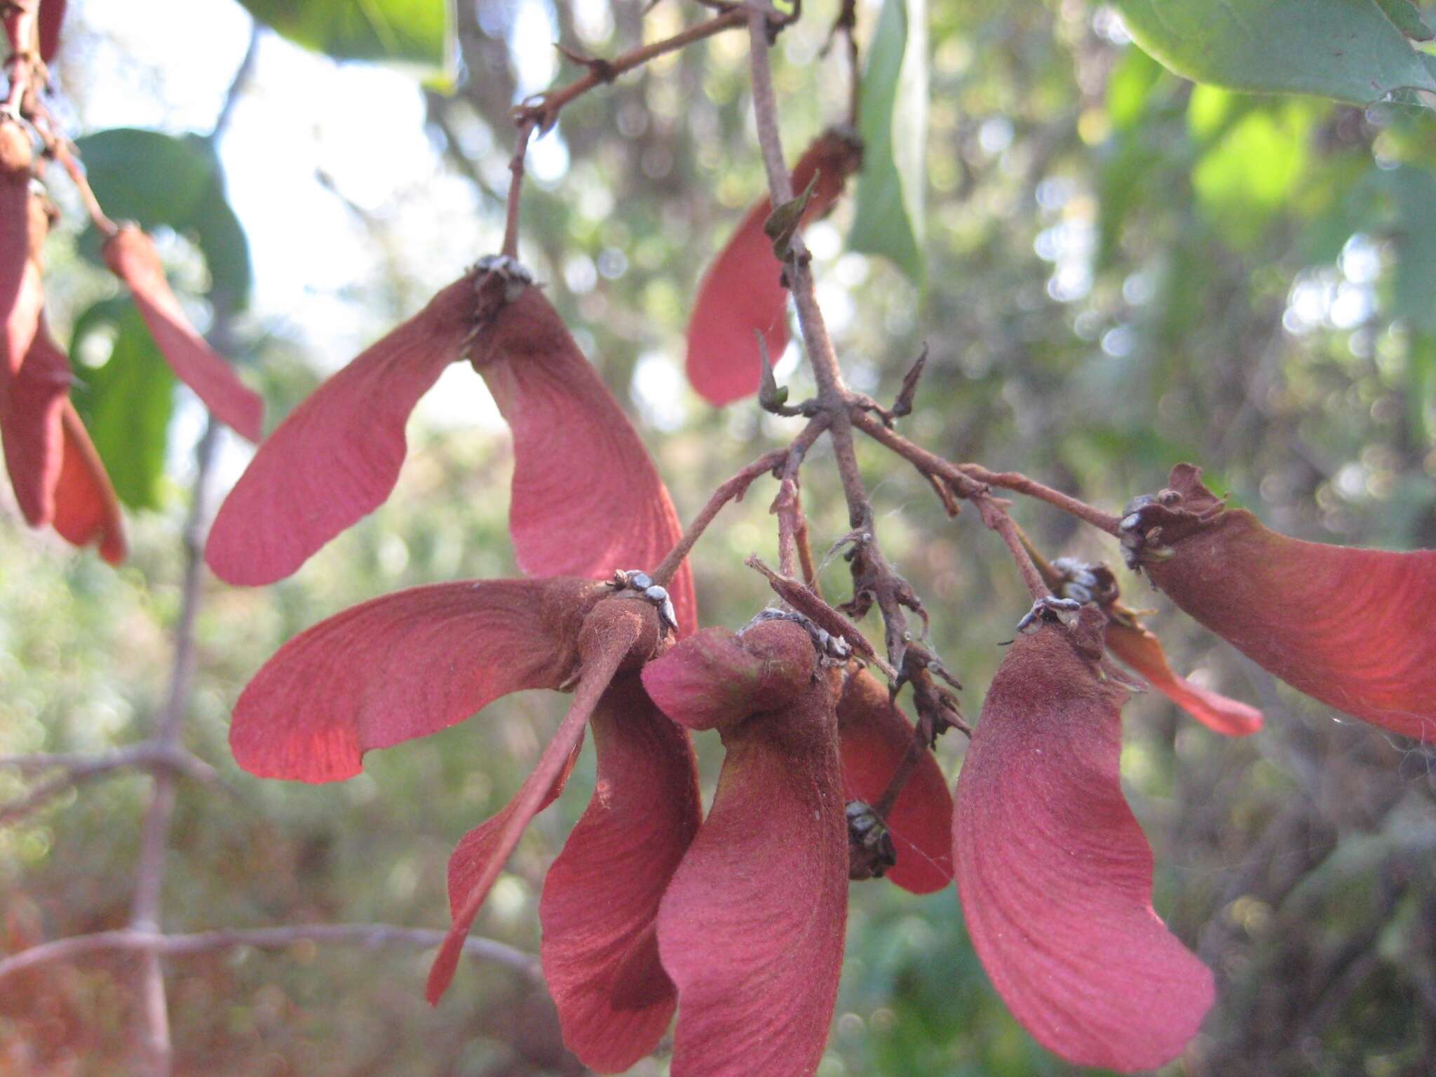
[[[925,0],[883,0],[867,47],[859,115],[863,171],[849,247],[882,254],[919,287],[928,136]]]

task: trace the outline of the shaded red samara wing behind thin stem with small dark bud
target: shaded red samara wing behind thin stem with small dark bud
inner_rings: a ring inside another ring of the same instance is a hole
[[[913,741],[912,724],[866,669],[847,681],[837,704],[843,797],[877,803]],[[913,893],[952,882],[952,796],[931,751],[923,751],[887,816],[898,863],[886,879]]]

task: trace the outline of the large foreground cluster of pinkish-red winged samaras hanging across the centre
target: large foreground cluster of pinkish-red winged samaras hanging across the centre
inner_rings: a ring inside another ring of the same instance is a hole
[[[841,968],[844,807],[877,800],[912,725],[801,620],[699,632],[688,566],[666,590],[639,572],[679,537],[672,503],[521,267],[481,261],[304,401],[221,508],[207,559],[227,580],[273,582],[373,510],[398,478],[415,402],[462,359],[513,428],[510,530],[536,579],[416,587],[310,628],[240,696],[236,758],[264,777],[346,778],[368,750],[501,695],[573,689],[533,774],[454,852],[452,929],[429,998],[592,729],[593,797],[540,902],[566,1043],[587,1066],[620,1071],[676,1011],[679,1077],[811,1074]],[[1278,676],[1399,732],[1436,731],[1436,553],[1277,536],[1226,510],[1188,467],[1129,508],[1122,534],[1132,564]],[[1106,655],[1223,732],[1252,732],[1261,715],[1178,678],[1114,602],[1110,573],[1044,569],[1084,605],[1018,635],[955,798],[923,758],[887,820],[887,877],[918,893],[956,877],[985,968],[1043,1044],[1080,1064],[1156,1067],[1198,1030],[1212,975],[1152,909],[1152,853],[1119,777],[1127,688]],[[707,817],[691,729],[718,729],[727,750]]]

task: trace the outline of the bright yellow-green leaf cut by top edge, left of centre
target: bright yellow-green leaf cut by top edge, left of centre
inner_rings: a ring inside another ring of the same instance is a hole
[[[447,0],[240,0],[297,45],[340,60],[399,60],[444,67]]]

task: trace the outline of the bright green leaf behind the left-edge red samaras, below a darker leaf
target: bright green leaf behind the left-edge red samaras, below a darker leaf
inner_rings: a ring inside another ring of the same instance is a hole
[[[99,333],[111,337],[112,348],[105,365],[92,368],[80,356]],[[70,366],[79,378],[72,391],[75,408],[119,500],[131,508],[158,508],[175,376],[134,304],[111,299],[80,314]]]

